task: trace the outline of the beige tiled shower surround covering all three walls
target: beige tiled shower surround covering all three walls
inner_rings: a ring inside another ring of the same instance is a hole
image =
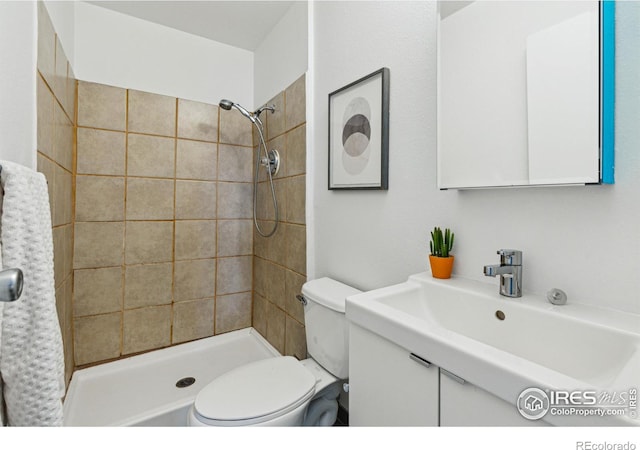
[[[281,221],[265,239],[252,223],[257,141],[239,112],[76,82],[42,4],[38,40],[38,170],[67,381],[78,367],[248,326],[305,358],[304,75],[263,116],[283,158]],[[264,181],[258,217],[270,228]]]

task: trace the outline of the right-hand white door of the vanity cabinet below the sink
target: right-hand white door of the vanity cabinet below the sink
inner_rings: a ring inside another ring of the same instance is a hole
[[[441,371],[440,425],[536,427],[548,424],[540,420],[527,420],[515,405],[466,381],[454,381]]]

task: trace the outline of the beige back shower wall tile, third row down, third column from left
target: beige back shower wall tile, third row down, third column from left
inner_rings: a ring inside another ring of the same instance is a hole
[[[176,182],[176,219],[215,219],[216,183]]]

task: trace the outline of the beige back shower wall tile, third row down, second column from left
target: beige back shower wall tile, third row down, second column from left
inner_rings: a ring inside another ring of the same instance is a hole
[[[127,220],[173,219],[173,180],[127,180]]]

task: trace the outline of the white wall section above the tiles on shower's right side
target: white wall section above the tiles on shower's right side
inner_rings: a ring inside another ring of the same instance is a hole
[[[307,71],[307,2],[297,1],[254,52],[254,107]]]

